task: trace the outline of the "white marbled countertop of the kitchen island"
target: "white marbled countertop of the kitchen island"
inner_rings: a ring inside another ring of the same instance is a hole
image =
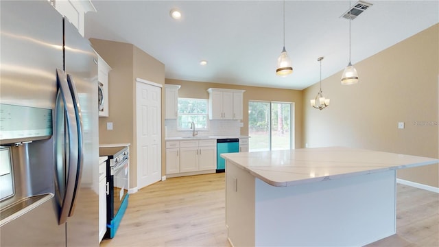
[[[221,154],[276,187],[439,163],[436,158],[344,147]]]

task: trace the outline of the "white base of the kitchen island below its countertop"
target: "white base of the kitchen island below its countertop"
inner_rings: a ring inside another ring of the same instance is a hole
[[[233,246],[363,246],[396,233],[394,171],[274,187],[227,169]]]

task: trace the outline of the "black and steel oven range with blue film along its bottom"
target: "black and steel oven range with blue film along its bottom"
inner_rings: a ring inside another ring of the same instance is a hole
[[[104,237],[115,237],[128,207],[130,154],[127,147],[99,148],[99,156],[108,156],[107,231]]]

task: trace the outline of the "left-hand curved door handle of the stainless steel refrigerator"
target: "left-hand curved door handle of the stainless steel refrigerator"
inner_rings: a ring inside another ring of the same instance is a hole
[[[58,78],[58,96],[62,97],[62,102],[64,103],[64,119],[66,126],[65,138],[67,138],[69,151],[65,156],[67,162],[67,178],[65,181],[65,191],[64,196],[61,202],[61,211],[60,218],[58,224],[64,224],[67,222],[67,217],[71,215],[71,207],[75,198],[75,180],[78,176],[78,128],[76,121],[76,113],[74,108],[73,97],[71,96],[71,92],[69,89],[69,83],[67,82],[67,75],[64,71],[57,69],[57,78]],[[57,106],[58,107],[58,106]],[[62,109],[61,109],[62,110]],[[58,111],[57,111],[58,113]],[[56,117],[58,119],[58,117]],[[59,133],[58,133],[59,134]],[[59,143],[57,143],[58,146]],[[62,150],[64,151],[64,150]],[[60,152],[60,150],[57,150]],[[57,154],[58,155],[58,154]],[[58,161],[59,162],[59,161]],[[57,164],[59,167],[60,164]],[[62,176],[62,174],[58,174],[58,176]],[[63,179],[58,178],[60,181]]]

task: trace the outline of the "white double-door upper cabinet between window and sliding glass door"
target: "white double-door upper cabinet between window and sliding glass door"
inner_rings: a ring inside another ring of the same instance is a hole
[[[242,119],[245,90],[207,89],[209,92],[209,119]]]

